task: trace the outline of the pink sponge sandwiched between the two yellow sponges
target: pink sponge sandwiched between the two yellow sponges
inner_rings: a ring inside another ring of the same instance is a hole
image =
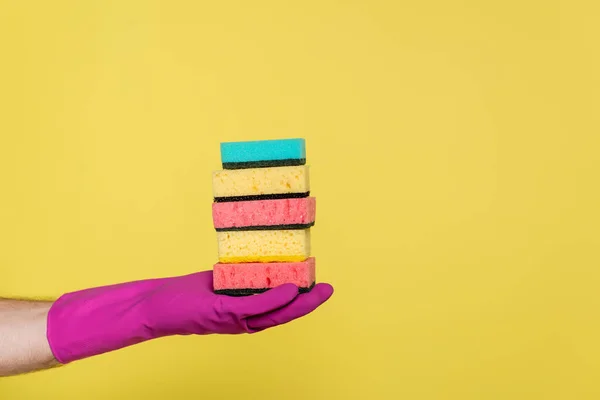
[[[277,199],[213,203],[217,231],[305,229],[314,225],[316,199]]]

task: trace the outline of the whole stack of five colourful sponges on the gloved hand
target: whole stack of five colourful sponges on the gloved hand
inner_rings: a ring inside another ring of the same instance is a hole
[[[221,143],[221,164],[213,172],[215,293],[245,296],[284,283],[310,291],[316,199],[304,139]]]

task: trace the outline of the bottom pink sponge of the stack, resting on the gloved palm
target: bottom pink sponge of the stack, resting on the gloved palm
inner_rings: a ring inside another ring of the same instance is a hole
[[[244,296],[294,283],[300,292],[315,284],[315,258],[292,263],[217,263],[213,267],[215,293]]]

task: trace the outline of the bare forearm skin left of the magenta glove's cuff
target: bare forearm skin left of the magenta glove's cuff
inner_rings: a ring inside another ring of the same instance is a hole
[[[59,365],[46,336],[52,302],[0,298],[0,376]]]

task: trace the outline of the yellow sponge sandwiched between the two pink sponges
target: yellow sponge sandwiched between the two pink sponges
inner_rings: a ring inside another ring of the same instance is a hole
[[[297,262],[310,256],[310,228],[217,232],[219,262]]]

